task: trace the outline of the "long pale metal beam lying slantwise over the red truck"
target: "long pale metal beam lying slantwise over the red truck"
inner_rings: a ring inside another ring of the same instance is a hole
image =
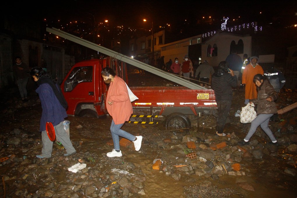
[[[158,75],[158,76],[163,77],[163,78],[165,78],[167,80],[170,80],[172,82],[175,82],[175,83],[178,83],[180,85],[183,85],[183,86],[185,86],[187,88],[190,88],[190,89],[207,89],[205,87],[202,87],[200,85],[197,85],[195,83],[192,83],[189,80],[185,80],[185,79],[183,79],[183,78],[181,78],[179,76],[176,76],[176,75],[171,74],[169,72],[165,72],[165,71],[163,71],[161,69],[158,69],[158,68],[156,68],[154,66],[145,64],[145,63],[143,63],[141,61],[135,60],[135,59],[133,59],[133,58],[131,58],[129,56],[125,56],[125,55],[123,55],[121,53],[118,53],[116,51],[113,51],[113,50],[110,50],[108,48],[105,48],[105,47],[102,47],[100,45],[97,45],[95,43],[89,42],[89,41],[87,41],[85,39],[76,37],[76,36],[74,36],[72,34],[69,34],[67,32],[61,31],[61,30],[59,30],[57,28],[46,28],[46,31],[48,31],[48,32],[50,32],[52,34],[55,34],[55,35],[57,35],[59,37],[65,38],[67,40],[70,40],[72,42],[75,42],[75,43],[78,43],[80,45],[83,45],[85,47],[88,47],[90,49],[96,50],[96,51],[98,51],[100,53],[103,53],[103,54],[105,54],[107,56],[114,57],[114,58],[116,58],[116,59],[118,59],[120,61],[123,61],[125,63],[131,64],[133,66],[136,66],[136,67],[138,67],[140,69],[143,69],[143,70],[146,70],[148,72],[151,72],[151,73],[153,73],[155,75]]]

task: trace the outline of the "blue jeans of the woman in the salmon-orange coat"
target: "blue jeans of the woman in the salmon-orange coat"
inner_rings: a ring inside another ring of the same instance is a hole
[[[111,121],[110,125],[110,132],[113,140],[113,146],[114,150],[119,151],[120,150],[120,141],[119,141],[119,136],[124,137],[130,141],[135,140],[135,136],[132,134],[129,134],[128,132],[125,132],[124,130],[121,129],[121,127],[124,125],[122,124],[115,124],[114,121]]]

